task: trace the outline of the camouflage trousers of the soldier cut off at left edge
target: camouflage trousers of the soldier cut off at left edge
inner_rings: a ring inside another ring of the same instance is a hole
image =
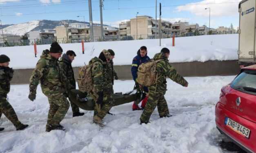
[[[6,116],[16,128],[20,128],[22,126],[13,107],[4,97],[0,97],[0,117],[2,114],[4,114],[4,116]]]

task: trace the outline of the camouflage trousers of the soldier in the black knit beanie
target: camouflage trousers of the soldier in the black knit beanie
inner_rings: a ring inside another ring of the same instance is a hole
[[[50,95],[48,101],[50,109],[47,125],[58,126],[69,109],[69,101],[62,93]]]

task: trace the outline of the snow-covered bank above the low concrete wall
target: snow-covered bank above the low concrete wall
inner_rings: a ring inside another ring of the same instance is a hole
[[[147,46],[148,56],[153,58],[161,48],[171,50],[170,62],[191,62],[208,60],[236,60],[238,59],[238,34],[230,35],[203,35],[194,37],[177,37],[176,46],[172,46],[172,39],[162,39],[159,46],[158,39],[116,41],[116,42],[90,42],[85,43],[85,54],[82,54],[81,43],[60,44],[64,52],[74,50],[76,59],[73,66],[82,66],[95,56],[98,57],[103,49],[113,49],[116,53],[115,65],[130,65],[140,46]],[[11,58],[10,66],[15,69],[35,68],[42,50],[49,49],[50,45],[38,45],[38,57],[34,57],[33,46],[15,46],[0,48],[0,54]]]

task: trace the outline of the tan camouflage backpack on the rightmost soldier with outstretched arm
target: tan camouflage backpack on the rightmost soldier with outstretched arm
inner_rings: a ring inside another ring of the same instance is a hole
[[[159,61],[162,61],[162,59],[158,59],[156,61],[151,59],[150,61],[148,61],[146,63],[142,63],[138,67],[137,82],[140,85],[149,87],[150,85],[154,85],[156,83],[156,78],[157,78],[156,64]]]

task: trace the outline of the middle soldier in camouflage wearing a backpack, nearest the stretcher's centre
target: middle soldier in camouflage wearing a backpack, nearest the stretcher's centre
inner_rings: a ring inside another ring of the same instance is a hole
[[[99,57],[94,57],[89,61],[92,66],[93,91],[92,97],[96,101],[94,108],[93,122],[103,126],[102,119],[111,109],[114,99],[112,93],[112,83],[106,78],[107,63],[110,61],[110,53],[102,50]]]

